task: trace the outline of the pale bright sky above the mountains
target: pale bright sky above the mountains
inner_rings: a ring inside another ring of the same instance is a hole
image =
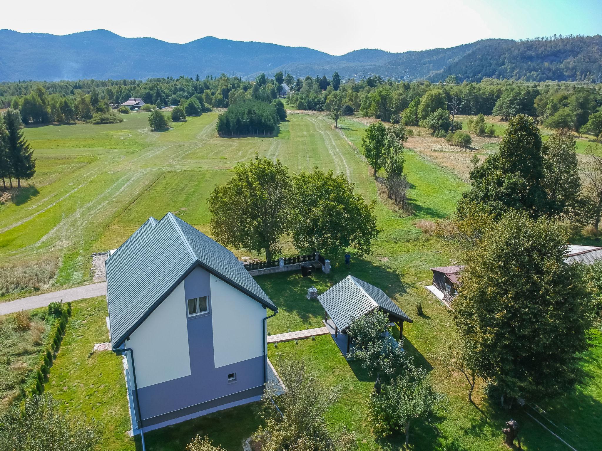
[[[602,33],[602,0],[3,2],[0,28],[69,34],[108,29],[185,43],[204,36],[341,55],[452,47],[483,38]]]

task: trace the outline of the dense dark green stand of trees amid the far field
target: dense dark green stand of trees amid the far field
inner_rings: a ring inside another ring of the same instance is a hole
[[[228,106],[228,111],[217,118],[216,129],[221,137],[272,135],[286,118],[281,100],[273,103],[244,99]]]

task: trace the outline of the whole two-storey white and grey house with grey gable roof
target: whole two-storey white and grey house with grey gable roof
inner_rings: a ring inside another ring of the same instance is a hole
[[[266,309],[278,309],[231,251],[167,213],[105,264],[134,434],[261,397]]]

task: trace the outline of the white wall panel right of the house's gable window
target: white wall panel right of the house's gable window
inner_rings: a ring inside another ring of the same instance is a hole
[[[263,355],[265,308],[214,275],[210,284],[215,367]]]

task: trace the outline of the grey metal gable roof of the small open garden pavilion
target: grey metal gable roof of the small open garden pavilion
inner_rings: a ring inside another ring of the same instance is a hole
[[[323,292],[318,301],[341,331],[349,327],[353,318],[370,313],[376,307],[412,322],[383,290],[352,275]]]

